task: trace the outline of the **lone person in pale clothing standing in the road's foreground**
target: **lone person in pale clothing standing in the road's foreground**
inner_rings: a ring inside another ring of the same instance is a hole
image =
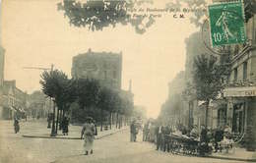
[[[83,126],[82,132],[81,132],[81,139],[85,139],[84,142],[84,148],[85,148],[85,155],[88,155],[89,152],[93,154],[93,146],[94,146],[94,140],[96,136],[96,126],[94,124],[94,120],[91,117],[86,118],[86,123]]]

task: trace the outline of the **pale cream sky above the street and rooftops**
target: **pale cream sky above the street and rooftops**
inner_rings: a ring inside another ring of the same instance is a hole
[[[54,68],[71,77],[72,57],[93,51],[122,51],[122,88],[132,80],[134,103],[147,108],[148,117],[157,118],[166,100],[168,82],[184,70],[185,38],[198,30],[189,16],[174,19],[166,14],[146,33],[130,26],[89,31],[71,27],[57,11],[60,0],[3,0],[2,46],[5,48],[5,80],[16,80],[28,93],[40,89],[39,70],[24,67]],[[157,2],[157,1],[156,1]],[[155,3],[163,7],[163,1]]]

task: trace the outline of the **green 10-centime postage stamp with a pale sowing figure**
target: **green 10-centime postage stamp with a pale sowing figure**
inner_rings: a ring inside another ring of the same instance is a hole
[[[208,8],[213,46],[244,43],[244,10],[241,2],[211,5]]]

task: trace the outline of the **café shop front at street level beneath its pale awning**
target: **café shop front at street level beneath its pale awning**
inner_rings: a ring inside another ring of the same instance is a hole
[[[225,88],[224,97],[228,101],[226,124],[231,127],[232,133],[243,139],[250,137],[247,140],[251,143],[256,142],[256,86]]]

